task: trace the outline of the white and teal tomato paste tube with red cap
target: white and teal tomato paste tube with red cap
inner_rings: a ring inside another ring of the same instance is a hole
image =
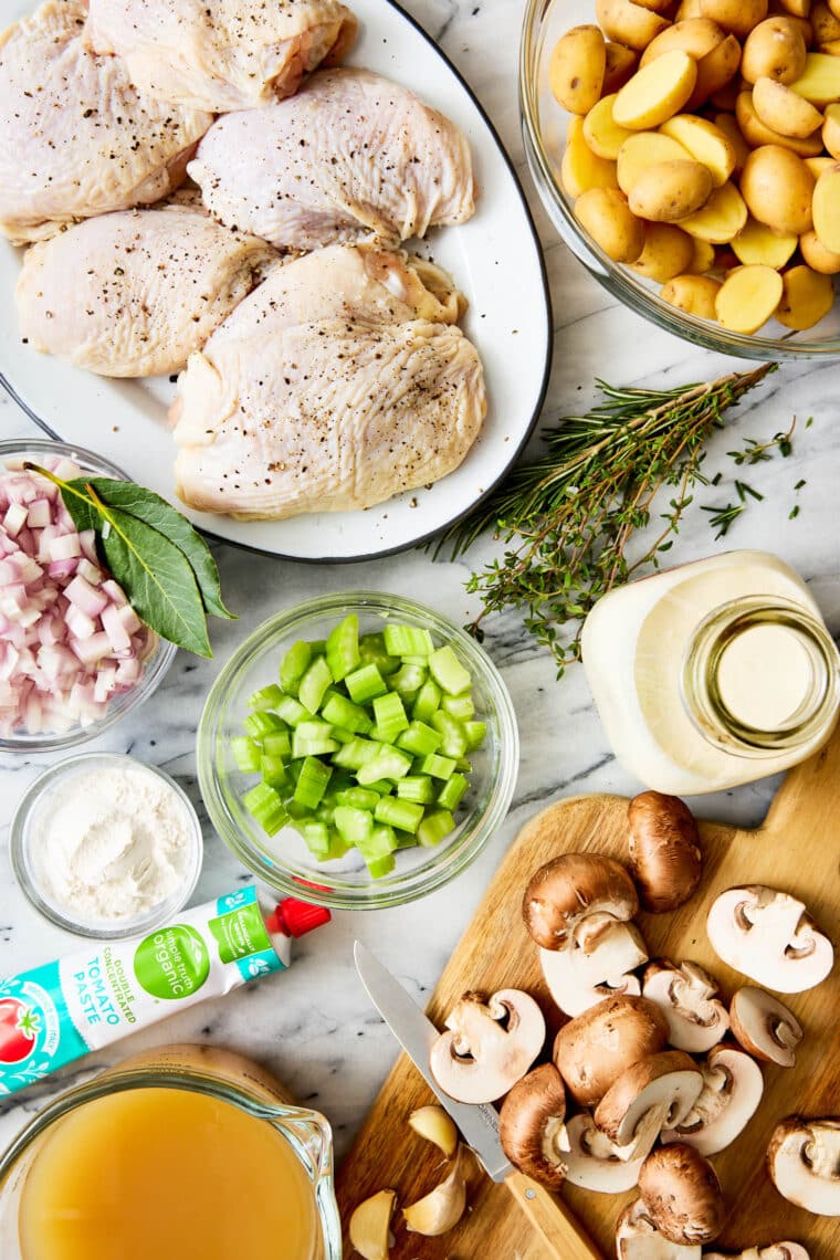
[[[184,911],[178,922],[0,982],[0,1095],[88,1051],[291,961],[291,937],[329,910],[288,897],[261,905],[254,887]]]

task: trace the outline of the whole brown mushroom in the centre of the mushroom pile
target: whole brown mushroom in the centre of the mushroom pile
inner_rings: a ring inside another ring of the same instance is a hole
[[[606,998],[560,1028],[554,1062],[574,1100],[594,1106],[622,1072],[666,1041],[667,1022],[654,1002]]]

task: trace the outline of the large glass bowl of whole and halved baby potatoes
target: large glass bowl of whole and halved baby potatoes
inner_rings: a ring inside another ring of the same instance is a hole
[[[528,0],[520,103],[622,302],[742,358],[840,353],[840,0]]]

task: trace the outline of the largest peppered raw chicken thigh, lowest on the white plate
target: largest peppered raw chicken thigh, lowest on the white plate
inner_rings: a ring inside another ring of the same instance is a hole
[[[278,267],[179,379],[184,503],[241,519],[346,512],[446,476],[486,411],[461,309],[443,272],[370,246]]]

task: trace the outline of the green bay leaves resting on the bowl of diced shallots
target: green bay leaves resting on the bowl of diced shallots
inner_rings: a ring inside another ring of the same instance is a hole
[[[76,478],[26,464],[58,486],[73,524],[92,529],[112,576],[135,612],[162,639],[212,656],[208,614],[233,617],[222,602],[213,554],[186,517],[133,481]]]

